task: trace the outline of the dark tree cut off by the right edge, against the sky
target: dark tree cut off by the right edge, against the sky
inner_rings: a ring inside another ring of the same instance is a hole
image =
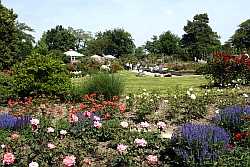
[[[239,50],[250,50],[250,19],[239,25],[239,28],[235,31],[229,41]]]

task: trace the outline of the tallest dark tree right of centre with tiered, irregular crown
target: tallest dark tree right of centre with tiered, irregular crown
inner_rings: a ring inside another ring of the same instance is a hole
[[[208,23],[209,18],[205,13],[195,15],[193,21],[188,20],[184,26],[186,33],[182,36],[181,44],[190,60],[194,60],[194,57],[206,58],[214,46],[220,46],[220,37]]]

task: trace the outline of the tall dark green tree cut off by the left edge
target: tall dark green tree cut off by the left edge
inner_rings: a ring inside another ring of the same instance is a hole
[[[13,9],[7,9],[0,4],[0,69],[10,69],[20,60],[19,31],[15,26],[17,17]]]

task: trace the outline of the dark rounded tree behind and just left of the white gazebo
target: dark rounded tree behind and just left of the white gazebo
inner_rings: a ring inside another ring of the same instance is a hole
[[[41,40],[48,46],[48,50],[60,50],[66,52],[75,49],[76,38],[69,30],[57,25],[55,28],[44,32]]]

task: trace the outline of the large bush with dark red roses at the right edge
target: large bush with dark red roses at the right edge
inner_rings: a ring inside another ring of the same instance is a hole
[[[250,79],[250,60],[243,54],[241,58],[230,54],[217,52],[215,57],[209,59],[207,64],[200,70],[207,79],[214,82],[215,86],[225,86],[241,79],[247,82]]]

